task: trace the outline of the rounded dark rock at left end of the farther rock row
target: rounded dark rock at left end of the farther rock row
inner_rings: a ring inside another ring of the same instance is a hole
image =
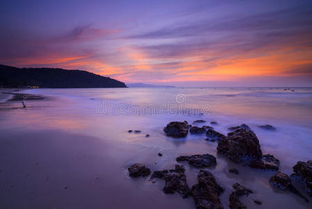
[[[188,122],[171,122],[164,127],[163,131],[167,136],[181,138],[188,135]]]

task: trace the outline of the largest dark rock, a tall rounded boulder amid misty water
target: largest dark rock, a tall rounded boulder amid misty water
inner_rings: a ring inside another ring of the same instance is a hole
[[[229,132],[226,138],[219,140],[217,152],[227,155],[234,162],[258,160],[262,157],[256,134],[243,128]]]

